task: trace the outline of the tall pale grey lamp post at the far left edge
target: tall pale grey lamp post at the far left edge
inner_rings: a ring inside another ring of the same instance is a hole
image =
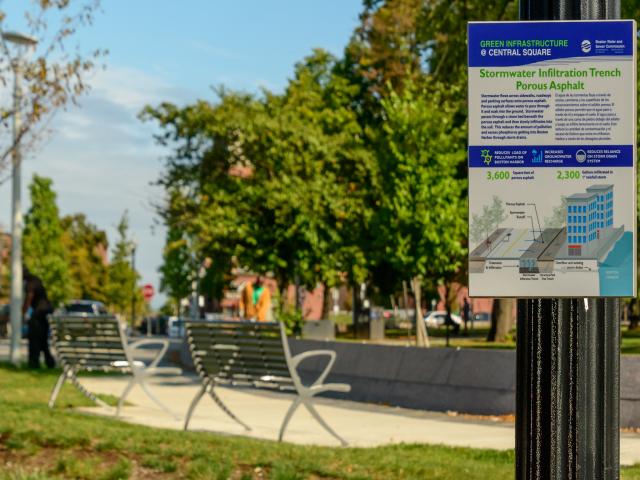
[[[21,155],[20,155],[20,103],[22,101],[22,56],[24,51],[35,47],[38,41],[28,35],[3,32],[2,40],[17,46],[18,55],[11,62],[13,67],[13,155],[11,197],[11,348],[9,360],[20,363],[20,338],[22,334],[22,203],[21,203]]]

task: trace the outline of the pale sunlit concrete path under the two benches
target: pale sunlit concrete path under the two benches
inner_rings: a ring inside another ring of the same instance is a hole
[[[81,377],[81,382],[95,393],[119,395],[127,383],[127,378]],[[155,379],[152,388],[170,408],[184,416],[199,389],[199,383],[195,377],[172,377]],[[280,424],[294,398],[293,395],[232,388],[219,388],[217,391],[231,411],[251,426],[252,430],[246,432],[208,396],[203,397],[198,405],[191,420],[190,430],[277,440]],[[182,429],[182,419],[173,418],[158,409],[139,387],[131,392],[128,402],[131,405],[123,408],[123,420],[153,427]],[[514,427],[510,423],[469,420],[443,413],[341,400],[318,399],[316,405],[329,425],[354,447],[430,443],[497,450],[514,448]],[[99,415],[113,415],[113,411],[99,407],[87,407],[82,410]],[[621,463],[640,463],[640,435],[623,433],[621,437]],[[307,445],[338,445],[304,408],[299,409],[293,416],[284,439]]]

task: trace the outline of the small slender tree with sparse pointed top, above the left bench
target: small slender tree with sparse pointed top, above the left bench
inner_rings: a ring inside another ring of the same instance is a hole
[[[126,315],[130,311],[132,295],[136,295],[137,305],[142,307],[144,304],[142,292],[138,288],[140,276],[131,266],[133,242],[129,237],[129,214],[127,211],[122,214],[117,230],[118,239],[113,247],[104,294],[112,311]]]

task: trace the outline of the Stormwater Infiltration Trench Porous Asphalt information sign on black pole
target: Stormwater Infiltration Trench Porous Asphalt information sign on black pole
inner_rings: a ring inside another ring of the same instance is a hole
[[[469,292],[636,292],[636,25],[469,24]]]

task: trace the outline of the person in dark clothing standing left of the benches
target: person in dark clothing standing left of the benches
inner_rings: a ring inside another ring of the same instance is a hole
[[[40,368],[40,354],[44,354],[44,362],[49,368],[55,366],[55,361],[49,351],[49,314],[53,308],[47,290],[40,277],[33,275],[29,269],[23,268],[24,279],[24,304],[22,314],[30,312],[28,320],[29,332],[29,367]]]

